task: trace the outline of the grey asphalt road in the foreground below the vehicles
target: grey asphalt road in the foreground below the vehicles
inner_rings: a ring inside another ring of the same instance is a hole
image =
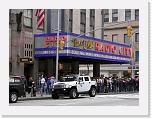
[[[89,97],[87,95],[79,96],[77,99],[69,97],[60,97],[60,99],[45,100],[24,100],[17,103],[10,103],[10,106],[138,106],[139,95],[134,94],[112,94],[96,95]]]

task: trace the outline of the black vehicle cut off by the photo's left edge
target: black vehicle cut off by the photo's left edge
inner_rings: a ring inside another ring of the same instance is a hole
[[[9,77],[9,102],[15,103],[18,97],[25,97],[25,84],[21,76],[10,76]]]

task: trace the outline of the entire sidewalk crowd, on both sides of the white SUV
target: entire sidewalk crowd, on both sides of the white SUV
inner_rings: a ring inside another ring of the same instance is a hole
[[[136,78],[118,78],[118,77],[93,77],[97,82],[97,93],[108,92],[129,92],[139,91],[139,77]],[[51,88],[56,82],[54,76],[39,76],[37,84],[32,77],[29,77],[26,82],[26,91],[31,96],[36,96],[36,91],[39,91],[41,96],[43,94],[51,94]]]

